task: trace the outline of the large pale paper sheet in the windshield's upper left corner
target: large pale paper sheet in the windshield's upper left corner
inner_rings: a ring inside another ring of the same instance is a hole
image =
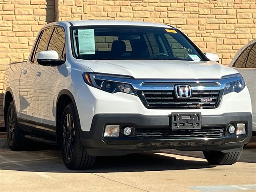
[[[95,54],[94,29],[78,29],[78,48],[80,55]]]

